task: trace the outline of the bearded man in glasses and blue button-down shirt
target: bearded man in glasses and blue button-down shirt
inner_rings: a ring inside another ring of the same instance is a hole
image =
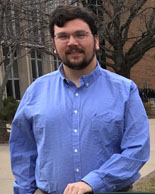
[[[149,158],[148,119],[136,85],[103,70],[92,13],[51,15],[56,72],[27,89],[12,123],[15,194],[123,191]]]

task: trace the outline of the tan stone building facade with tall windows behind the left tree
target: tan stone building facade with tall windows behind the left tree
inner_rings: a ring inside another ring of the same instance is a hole
[[[59,4],[50,0],[9,1],[0,31],[0,86],[10,69],[4,98],[21,99],[35,79],[58,68],[60,61],[52,52],[46,15]],[[10,65],[13,52],[14,62]]]

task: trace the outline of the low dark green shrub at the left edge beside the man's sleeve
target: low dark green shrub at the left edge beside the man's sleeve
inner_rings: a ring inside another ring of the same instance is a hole
[[[3,108],[0,109],[0,120],[11,122],[18,107],[18,101],[13,97],[3,100]]]

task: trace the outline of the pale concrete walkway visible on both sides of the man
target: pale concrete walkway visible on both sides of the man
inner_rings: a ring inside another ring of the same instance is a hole
[[[155,119],[150,119],[151,156],[141,169],[142,176],[155,170]],[[13,176],[10,167],[9,146],[0,144],[0,194],[13,194]]]

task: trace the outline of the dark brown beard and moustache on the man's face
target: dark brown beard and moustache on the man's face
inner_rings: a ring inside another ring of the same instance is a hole
[[[72,56],[72,59],[70,59],[70,54],[74,52],[82,54],[83,58],[81,58],[80,56],[81,59],[79,60],[79,56]],[[92,52],[91,55],[87,57],[83,49],[80,49],[77,46],[70,46],[70,48],[68,48],[65,52],[65,57],[61,57],[59,53],[58,52],[57,53],[58,53],[58,57],[60,58],[60,60],[63,62],[64,65],[66,65],[70,69],[82,70],[92,62],[96,54],[95,41],[91,52]]]

